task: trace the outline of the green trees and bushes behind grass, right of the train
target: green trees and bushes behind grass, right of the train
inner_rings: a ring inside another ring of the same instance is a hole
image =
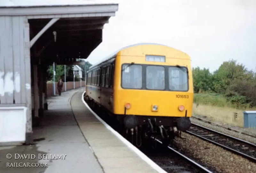
[[[223,62],[213,74],[199,67],[192,73],[195,93],[211,91],[224,95],[236,106],[256,106],[256,73],[236,60]]]

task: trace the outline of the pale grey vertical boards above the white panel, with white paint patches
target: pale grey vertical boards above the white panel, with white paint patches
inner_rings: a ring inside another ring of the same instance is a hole
[[[25,17],[0,17],[0,106],[26,104]]]

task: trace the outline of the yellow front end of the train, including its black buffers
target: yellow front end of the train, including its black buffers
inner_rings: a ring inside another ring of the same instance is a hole
[[[114,75],[113,113],[125,115],[127,128],[148,121],[190,127],[194,93],[186,53],[156,44],[130,47],[116,55]]]

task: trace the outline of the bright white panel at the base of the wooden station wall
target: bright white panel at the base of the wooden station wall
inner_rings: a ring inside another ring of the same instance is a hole
[[[27,107],[0,107],[0,143],[26,140]]]

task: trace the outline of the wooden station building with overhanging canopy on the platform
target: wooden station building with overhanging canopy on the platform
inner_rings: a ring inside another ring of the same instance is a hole
[[[47,109],[47,66],[87,58],[118,10],[106,1],[30,2],[0,2],[0,145],[33,143]]]

